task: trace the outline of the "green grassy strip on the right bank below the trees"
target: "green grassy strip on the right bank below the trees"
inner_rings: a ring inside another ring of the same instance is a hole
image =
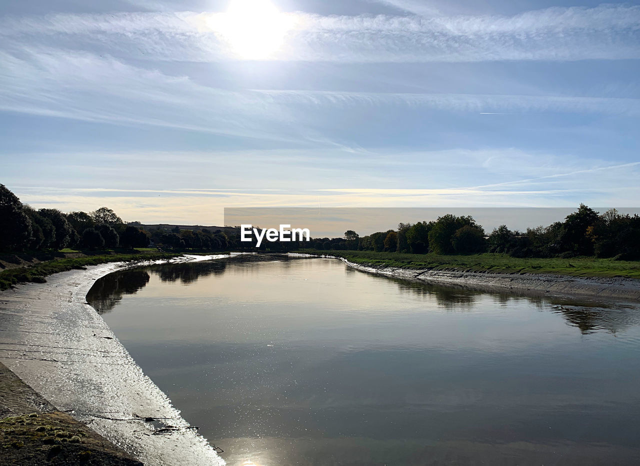
[[[380,268],[457,270],[493,273],[554,273],[573,277],[640,278],[640,261],[614,261],[593,257],[573,259],[518,259],[505,254],[438,255],[373,251],[300,250],[310,254],[342,257],[349,262]]]

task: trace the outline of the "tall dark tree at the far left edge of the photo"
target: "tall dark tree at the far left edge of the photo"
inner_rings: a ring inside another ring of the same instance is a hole
[[[22,250],[29,245],[31,220],[20,199],[4,184],[0,184],[0,223],[0,250]]]

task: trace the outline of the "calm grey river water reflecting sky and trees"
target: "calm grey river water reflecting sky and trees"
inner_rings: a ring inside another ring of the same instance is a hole
[[[640,309],[332,259],[102,278],[90,302],[231,466],[640,464]]]

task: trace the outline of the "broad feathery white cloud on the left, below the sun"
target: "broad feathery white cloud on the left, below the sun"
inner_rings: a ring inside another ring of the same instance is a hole
[[[299,141],[291,115],[255,93],[202,86],[186,76],[109,56],[56,49],[0,51],[0,109],[124,125],[156,125],[245,138]]]

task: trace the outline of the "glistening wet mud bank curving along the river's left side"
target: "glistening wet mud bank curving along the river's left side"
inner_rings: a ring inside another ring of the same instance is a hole
[[[86,303],[97,278],[127,266],[62,272],[0,293],[0,362],[145,465],[224,465]]]

